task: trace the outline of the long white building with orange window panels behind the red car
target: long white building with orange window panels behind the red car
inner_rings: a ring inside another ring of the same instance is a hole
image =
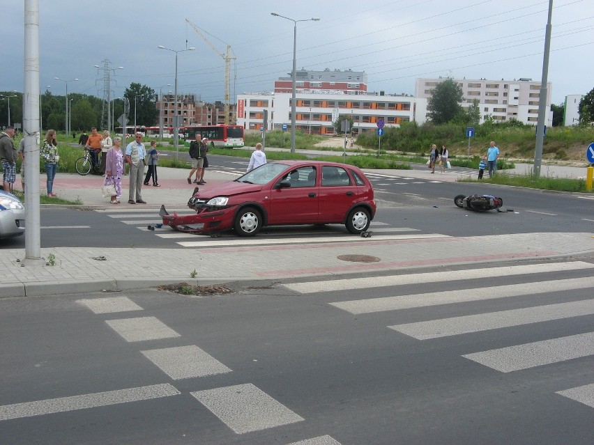
[[[264,109],[268,120],[264,123]],[[357,95],[342,91],[297,91],[296,130],[312,134],[333,134],[333,122],[339,116],[351,116],[354,133],[376,130],[378,118],[386,127],[416,120],[425,122],[427,100],[403,95],[367,93]],[[237,125],[245,130],[291,130],[291,93],[243,93],[237,97]]]

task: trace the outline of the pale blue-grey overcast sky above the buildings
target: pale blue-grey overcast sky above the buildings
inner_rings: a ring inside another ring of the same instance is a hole
[[[413,94],[418,77],[513,80],[542,77],[548,1],[538,0],[40,0],[40,86],[56,95],[102,97],[105,59],[116,69],[112,97],[131,82],[207,102],[224,99],[224,60],[186,22],[206,31],[231,63],[231,101],[272,91],[297,68],[365,71],[369,91]],[[24,1],[0,0],[0,91],[24,88]],[[594,1],[555,0],[549,81],[555,104],[594,88]],[[172,84],[172,86],[167,86]],[[113,95],[114,94],[114,95]]]

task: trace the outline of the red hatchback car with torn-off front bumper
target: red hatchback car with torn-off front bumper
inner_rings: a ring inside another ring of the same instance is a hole
[[[197,214],[169,214],[162,205],[163,224],[188,233],[233,229],[240,236],[254,236],[264,226],[344,224],[358,234],[367,231],[376,211],[363,171],[318,161],[269,162],[196,192],[188,207]]]

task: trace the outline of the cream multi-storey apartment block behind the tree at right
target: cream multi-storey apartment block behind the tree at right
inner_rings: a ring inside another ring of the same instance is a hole
[[[429,98],[433,88],[446,78],[416,79],[415,96]],[[478,100],[480,123],[491,116],[497,122],[516,119],[522,123],[536,125],[540,103],[540,81],[521,78],[518,80],[453,79],[462,88],[464,102],[469,107]],[[547,114],[545,125],[553,123],[551,111],[551,82],[547,83]]]

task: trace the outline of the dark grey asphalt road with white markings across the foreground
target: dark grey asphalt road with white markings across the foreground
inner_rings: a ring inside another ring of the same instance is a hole
[[[1,442],[590,445],[594,265],[532,264],[0,299]]]

